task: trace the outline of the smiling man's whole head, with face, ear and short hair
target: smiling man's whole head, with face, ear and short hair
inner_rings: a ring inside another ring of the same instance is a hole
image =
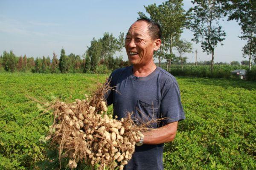
[[[161,30],[157,23],[139,19],[131,25],[125,38],[125,49],[132,65],[147,65],[161,45]]]

